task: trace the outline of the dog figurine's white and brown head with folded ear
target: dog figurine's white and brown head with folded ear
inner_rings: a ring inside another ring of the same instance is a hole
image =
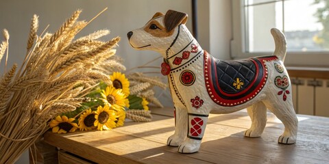
[[[157,51],[162,55],[166,51],[167,55],[175,53],[173,44],[184,45],[193,39],[185,26],[187,17],[186,13],[173,10],[168,10],[165,15],[157,12],[144,27],[127,33],[130,45],[134,49]]]

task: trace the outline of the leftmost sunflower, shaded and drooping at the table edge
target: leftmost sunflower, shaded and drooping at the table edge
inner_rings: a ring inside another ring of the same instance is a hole
[[[51,120],[49,126],[52,128],[53,133],[67,133],[74,132],[78,126],[74,123],[74,118],[67,118],[66,115],[57,115],[56,119]]]

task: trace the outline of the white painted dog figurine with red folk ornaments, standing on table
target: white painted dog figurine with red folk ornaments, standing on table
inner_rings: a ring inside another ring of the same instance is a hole
[[[276,49],[272,56],[222,61],[204,51],[185,26],[187,14],[157,12],[140,29],[127,33],[131,46],[161,53],[161,72],[167,75],[175,105],[175,133],[167,145],[178,152],[199,150],[209,113],[232,113],[247,108],[252,126],[245,137],[260,137],[267,109],[284,124],[278,143],[292,144],[298,120],[291,83],[283,61],[286,40],[271,29]]]

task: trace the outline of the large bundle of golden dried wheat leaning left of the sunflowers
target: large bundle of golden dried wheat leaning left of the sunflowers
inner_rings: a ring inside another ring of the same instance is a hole
[[[109,31],[100,30],[75,39],[88,25],[77,20],[80,13],[53,34],[38,35],[38,16],[32,18],[23,64],[5,70],[0,79],[0,163],[14,163],[49,129],[51,118],[88,100],[80,97],[99,80],[111,83],[101,70],[117,64],[112,48],[120,38],[101,42],[97,39]],[[5,56],[7,67],[8,31],[3,36],[0,61]]]

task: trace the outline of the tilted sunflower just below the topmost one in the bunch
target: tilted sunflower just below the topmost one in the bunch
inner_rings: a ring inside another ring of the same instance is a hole
[[[123,94],[121,91],[121,89],[115,89],[113,86],[106,87],[106,89],[102,90],[101,92],[103,102],[113,109],[123,110],[126,102],[125,94]]]

